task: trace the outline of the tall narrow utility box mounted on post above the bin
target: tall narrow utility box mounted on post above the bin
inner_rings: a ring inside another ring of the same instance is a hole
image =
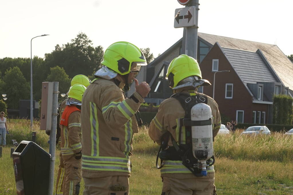
[[[42,82],[40,129],[51,130],[53,82]]]

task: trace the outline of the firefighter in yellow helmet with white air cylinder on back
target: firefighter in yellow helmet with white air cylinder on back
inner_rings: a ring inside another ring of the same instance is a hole
[[[221,126],[218,105],[211,97],[197,93],[197,87],[210,83],[202,79],[197,61],[184,54],[172,60],[166,78],[174,94],[161,103],[149,126],[149,136],[161,145],[157,157],[161,159],[161,166],[158,162],[156,166],[161,170],[162,195],[215,194],[214,158],[207,161],[207,172],[194,167],[199,165],[192,154],[191,126],[194,125],[187,123],[191,107],[197,103],[207,104],[212,110],[211,136],[217,135]]]

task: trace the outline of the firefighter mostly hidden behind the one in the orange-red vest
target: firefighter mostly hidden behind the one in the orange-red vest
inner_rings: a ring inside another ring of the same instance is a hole
[[[90,83],[91,83],[91,80],[87,76],[82,75],[82,74],[78,74],[71,79],[71,87],[74,84],[81,84],[81,85],[87,87],[87,86],[89,86]],[[67,95],[68,95],[68,93],[69,92],[67,92]],[[57,118],[58,124],[57,124],[56,144],[59,144],[59,145],[61,143],[61,139],[60,139],[61,131],[60,131],[59,124],[60,124],[61,115],[64,112],[65,107],[67,106],[66,105],[67,99],[68,99],[68,97],[66,97],[62,101],[62,103],[60,104],[60,106],[58,108],[59,115]],[[59,169],[58,169],[58,173],[57,173],[57,180],[56,180],[56,194],[57,195],[63,194],[64,163],[63,163],[63,158],[62,158],[61,152],[59,154],[59,160],[60,160],[60,164],[59,164]]]

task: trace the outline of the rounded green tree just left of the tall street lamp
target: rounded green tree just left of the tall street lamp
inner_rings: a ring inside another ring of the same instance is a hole
[[[30,84],[25,80],[18,67],[6,70],[3,81],[2,90],[7,94],[6,104],[8,108],[18,109],[19,100],[30,98]]]

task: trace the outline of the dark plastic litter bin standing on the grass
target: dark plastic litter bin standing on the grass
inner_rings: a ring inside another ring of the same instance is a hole
[[[18,195],[49,194],[51,155],[34,142],[22,141],[12,153]]]

